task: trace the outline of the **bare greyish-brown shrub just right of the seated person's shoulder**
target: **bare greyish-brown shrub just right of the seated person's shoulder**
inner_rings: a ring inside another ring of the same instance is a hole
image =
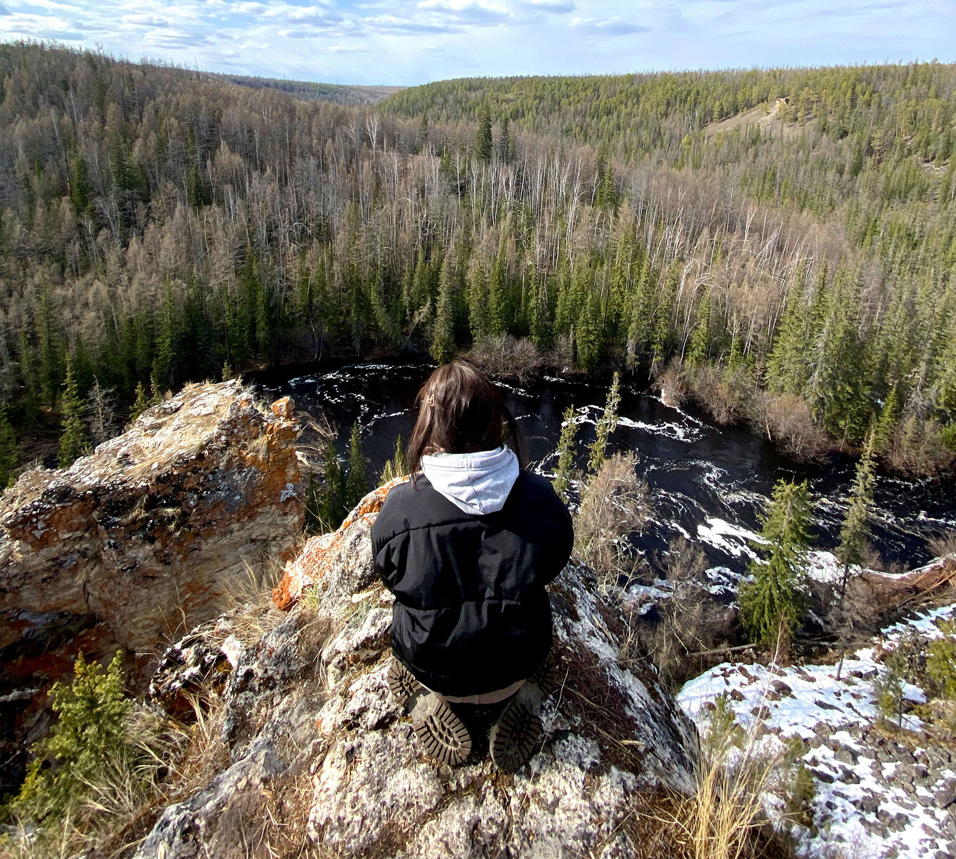
[[[633,571],[634,558],[623,544],[650,515],[647,484],[635,473],[637,456],[616,453],[588,483],[575,517],[575,547],[602,586],[617,584]]]

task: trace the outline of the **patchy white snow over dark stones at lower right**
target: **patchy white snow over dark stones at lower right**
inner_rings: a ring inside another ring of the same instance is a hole
[[[820,553],[823,554],[823,553]],[[889,643],[912,629],[940,635],[936,622],[956,606],[924,611],[882,630]],[[874,648],[847,652],[837,667],[724,663],[688,681],[678,702],[702,728],[717,695],[728,695],[737,722],[764,741],[800,738],[802,760],[814,778],[815,833],[798,833],[801,856],[932,857],[956,855],[956,752],[932,743],[926,725],[903,716],[906,742],[876,727],[874,680],[883,672]],[[905,697],[923,701],[918,687]],[[923,741],[920,741],[923,738]],[[909,741],[912,740],[912,741]],[[915,745],[914,745],[915,742]]]

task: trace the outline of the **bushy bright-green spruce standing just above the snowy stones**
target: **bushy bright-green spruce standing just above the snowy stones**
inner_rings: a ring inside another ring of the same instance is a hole
[[[810,546],[810,491],[807,483],[780,480],[773,488],[759,548],[768,562],[750,562],[753,582],[741,585],[740,617],[750,641],[784,647],[807,609],[806,552]]]

